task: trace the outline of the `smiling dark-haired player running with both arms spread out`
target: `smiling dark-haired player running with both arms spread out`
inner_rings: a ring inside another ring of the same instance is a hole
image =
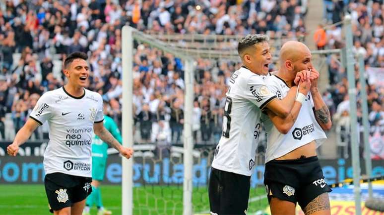
[[[67,84],[40,97],[29,119],[7,147],[7,153],[16,156],[19,146],[38,126],[48,121],[44,184],[51,212],[55,215],[82,214],[85,198],[92,192],[93,132],[127,159],[133,153],[104,128],[101,95],[84,88],[89,77],[87,59],[83,52],[68,55],[64,61]]]

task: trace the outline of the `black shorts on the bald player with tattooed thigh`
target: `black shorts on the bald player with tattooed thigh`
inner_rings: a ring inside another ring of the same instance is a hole
[[[264,184],[268,202],[272,197],[299,203],[305,208],[322,193],[331,192],[325,183],[317,156],[298,160],[273,160],[265,164]]]

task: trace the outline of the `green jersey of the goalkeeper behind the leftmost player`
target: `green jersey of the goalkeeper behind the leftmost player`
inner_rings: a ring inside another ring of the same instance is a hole
[[[120,130],[111,117],[104,116],[104,127],[109,132],[111,132],[112,136],[114,136],[120,142],[120,144],[123,142]],[[107,158],[107,149],[108,144],[103,142],[99,136],[94,135],[92,140],[92,156]]]

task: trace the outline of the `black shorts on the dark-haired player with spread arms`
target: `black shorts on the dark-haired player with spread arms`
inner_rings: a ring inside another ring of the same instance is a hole
[[[44,185],[48,203],[52,210],[71,207],[73,203],[87,198],[92,192],[91,177],[55,172],[45,175]],[[51,212],[53,212],[50,210]]]

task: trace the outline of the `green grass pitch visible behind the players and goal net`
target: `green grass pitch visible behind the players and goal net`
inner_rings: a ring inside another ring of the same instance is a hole
[[[121,215],[121,186],[102,185],[104,206],[114,215]],[[194,187],[193,212],[209,213],[206,187]],[[133,188],[134,215],[183,214],[183,186],[141,186]],[[265,209],[267,200],[264,188],[251,189],[249,212]],[[0,185],[1,215],[49,215],[44,185]],[[95,207],[91,210],[96,215]]]

